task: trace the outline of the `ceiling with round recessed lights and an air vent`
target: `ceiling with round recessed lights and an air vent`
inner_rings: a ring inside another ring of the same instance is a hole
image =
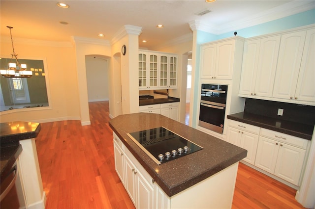
[[[200,30],[222,34],[315,8],[314,0],[60,0],[70,6],[67,9],[57,2],[1,0],[1,36],[9,36],[6,26],[13,26],[13,40],[70,41],[76,36],[112,41],[124,25],[132,25],[142,27],[139,47],[151,49],[191,39],[191,22],[206,26]],[[207,9],[211,12],[196,15]]]

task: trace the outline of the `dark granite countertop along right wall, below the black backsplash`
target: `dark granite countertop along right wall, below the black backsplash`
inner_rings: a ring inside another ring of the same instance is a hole
[[[314,126],[275,119],[248,112],[239,112],[227,116],[228,119],[251,124],[264,129],[286,133],[300,138],[312,139]]]

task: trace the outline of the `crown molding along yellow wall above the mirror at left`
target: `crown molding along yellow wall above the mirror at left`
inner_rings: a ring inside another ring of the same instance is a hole
[[[10,36],[1,36],[1,43],[11,43]],[[33,46],[46,46],[46,47],[73,47],[71,42],[67,41],[47,41],[38,39],[27,39],[27,38],[14,38],[14,43],[16,44],[26,44]]]

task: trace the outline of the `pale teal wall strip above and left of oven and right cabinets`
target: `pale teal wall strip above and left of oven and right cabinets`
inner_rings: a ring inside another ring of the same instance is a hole
[[[301,12],[295,15],[291,15],[288,17],[284,17],[278,20],[270,21],[267,23],[259,24],[256,26],[251,26],[243,29],[236,30],[237,35],[250,38],[258,35],[264,35],[269,33],[274,33],[282,30],[292,29],[295,27],[300,26],[307,26],[315,24],[315,9]],[[197,46],[196,46],[196,66],[195,66],[195,78],[194,78],[194,91],[193,94],[196,95],[193,101],[193,114],[192,114],[192,127],[196,128],[196,116],[197,116],[197,105],[198,105],[198,97],[199,97],[199,90],[198,90],[198,82],[199,82],[199,60],[200,60],[200,45],[220,40],[223,38],[229,38],[234,36],[234,31],[230,31],[220,35],[214,35],[211,33],[207,33],[204,31],[197,31]]]

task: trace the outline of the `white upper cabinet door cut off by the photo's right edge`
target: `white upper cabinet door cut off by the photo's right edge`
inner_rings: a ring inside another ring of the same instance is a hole
[[[300,101],[315,102],[315,29],[306,33],[304,51],[295,98]]]

